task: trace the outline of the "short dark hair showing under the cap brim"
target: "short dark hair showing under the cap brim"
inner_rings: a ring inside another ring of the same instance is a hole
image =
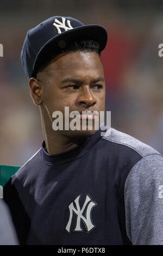
[[[38,72],[41,72],[46,66],[51,62],[51,60],[60,53],[64,52],[96,52],[99,56],[101,51],[99,51],[100,45],[94,40],[78,40],[70,42],[66,45],[65,41],[60,41],[60,50],[54,52],[51,56],[46,58],[46,61],[40,62],[41,64],[37,67],[35,72],[35,77]]]

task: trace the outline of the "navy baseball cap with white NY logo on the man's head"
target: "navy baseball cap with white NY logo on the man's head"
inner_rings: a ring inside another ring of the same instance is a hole
[[[21,61],[26,75],[36,75],[39,66],[54,53],[59,53],[69,42],[90,39],[99,42],[101,52],[108,39],[106,29],[100,25],[84,25],[82,22],[64,16],[51,17],[27,32]]]

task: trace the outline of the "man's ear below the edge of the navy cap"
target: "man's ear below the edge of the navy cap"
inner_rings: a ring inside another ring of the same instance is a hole
[[[43,84],[36,78],[32,77],[29,80],[30,95],[32,96],[35,105],[41,105],[43,97]]]

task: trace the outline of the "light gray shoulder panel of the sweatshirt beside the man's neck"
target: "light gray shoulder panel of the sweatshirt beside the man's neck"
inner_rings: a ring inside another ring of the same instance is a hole
[[[159,154],[158,151],[150,147],[149,145],[139,141],[126,133],[117,131],[113,128],[108,130],[105,135],[102,137],[105,141],[114,143],[116,147],[124,146],[130,150],[134,150],[135,153],[139,154],[141,157],[151,155],[151,154]]]

